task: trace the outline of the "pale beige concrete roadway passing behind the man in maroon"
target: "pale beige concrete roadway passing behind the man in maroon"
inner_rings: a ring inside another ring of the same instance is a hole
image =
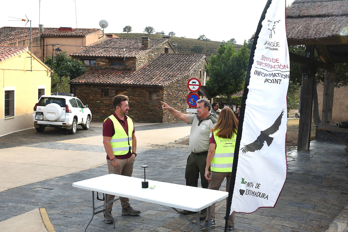
[[[163,146],[190,134],[190,127],[187,126],[187,123],[176,124],[169,128],[170,123],[157,124],[135,123],[137,152]],[[28,129],[0,137],[4,140],[10,137],[11,139],[8,140],[11,141],[18,141],[24,137],[34,137],[40,141],[40,136],[43,137],[42,142],[37,143],[36,146],[28,144],[0,149],[0,169],[2,172],[0,191],[86,170],[106,163],[100,125],[102,126],[102,123],[91,123],[89,130],[79,130],[77,134],[71,136],[62,136],[60,133],[66,133],[63,129],[47,128],[44,133],[37,133],[35,129]],[[153,129],[154,127],[158,129]],[[47,136],[55,137],[49,139]],[[59,140],[62,137],[67,139]],[[11,144],[8,145],[11,146]],[[65,151],[62,152],[62,150]],[[20,157],[20,159],[14,159],[14,155]],[[13,168],[14,166],[16,166],[16,169]],[[27,173],[31,173],[31,178],[27,178]]]

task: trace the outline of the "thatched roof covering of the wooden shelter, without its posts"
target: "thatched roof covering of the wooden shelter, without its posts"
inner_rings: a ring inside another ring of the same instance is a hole
[[[289,44],[348,44],[348,0],[296,0],[286,22]]]

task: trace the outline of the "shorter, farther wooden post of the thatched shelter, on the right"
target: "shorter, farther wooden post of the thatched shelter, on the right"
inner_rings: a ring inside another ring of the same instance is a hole
[[[322,123],[331,124],[335,71],[325,71]]]

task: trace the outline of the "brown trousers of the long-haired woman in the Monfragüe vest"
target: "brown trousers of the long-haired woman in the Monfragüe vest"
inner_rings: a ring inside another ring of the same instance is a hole
[[[229,187],[230,187],[230,181],[231,181],[231,173],[219,173],[216,171],[211,171],[210,172],[210,178],[211,180],[209,181],[209,186],[208,189],[214,189],[214,190],[219,190],[220,186],[223,182],[223,180],[225,179],[227,180],[226,183],[226,192],[228,192]],[[227,198],[226,198],[226,203],[227,203]],[[213,203],[213,205],[210,207],[210,219],[214,219],[215,220],[215,203]],[[208,212],[208,211],[207,211]],[[208,221],[208,214],[205,218],[206,221]],[[233,211],[232,214],[228,217],[228,221],[227,221],[227,225],[234,225],[235,224],[235,216],[236,216],[236,212]]]

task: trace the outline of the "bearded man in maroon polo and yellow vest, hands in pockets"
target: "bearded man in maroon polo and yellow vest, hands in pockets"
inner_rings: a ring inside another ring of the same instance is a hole
[[[128,114],[128,97],[117,95],[112,99],[114,112],[103,123],[103,144],[106,151],[106,161],[108,162],[109,174],[132,176],[133,165],[136,157],[136,137],[133,119],[126,116]],[[130,131],[132,136],[129,136]],[[128,140],[128,141],[127,141]],[[110,183],[111,184],[111,183]],[[117,184],[117,183],[115,183]],[[107,201],[115,198],[108,194]],[[120,198],[122,215],[138,215],[139,210],[134,210],[129,199]],[[106,206],[103,212],[105,223],[112,223],[111,215],[113,203]]]

